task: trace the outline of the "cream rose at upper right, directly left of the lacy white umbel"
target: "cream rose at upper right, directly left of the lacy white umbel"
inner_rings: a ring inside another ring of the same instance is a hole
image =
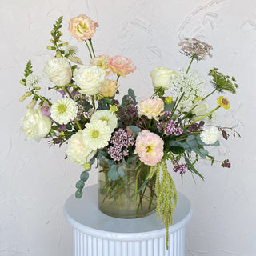
[[[154,89],[162,87],[162,89],[168,90],[170,88],[171,78],[176,76],[176,72],[166,67],[158,66],[151,71],[150,76],[152,78]]]

